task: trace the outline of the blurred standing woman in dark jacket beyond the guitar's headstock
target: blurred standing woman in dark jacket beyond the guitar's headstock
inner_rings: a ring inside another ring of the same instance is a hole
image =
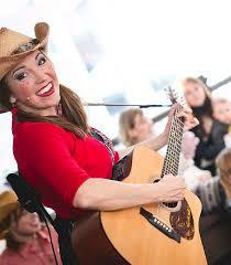
[[[212,118],[211,94],[200,80],[187,77],[183,81],[183,88],[188,105],[199,120],[199,126],[193,128],[200,139],[195,163],[216,176],[215,159],[224,148],[223,136],[228,132],[228,125]]]

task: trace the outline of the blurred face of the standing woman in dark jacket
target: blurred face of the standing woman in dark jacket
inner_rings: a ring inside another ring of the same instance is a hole
[[[194,82],[187,82],[184,86],[185,98],[190,107],[200,107],[206,100],[204,87]]]

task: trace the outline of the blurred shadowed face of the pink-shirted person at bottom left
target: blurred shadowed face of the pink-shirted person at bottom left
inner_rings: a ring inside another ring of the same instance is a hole
[[[41,221],[36,213],[30,213],[23,210],[22,215],[18,220],[14,230],[19,234],[33,235],[41,230]]]

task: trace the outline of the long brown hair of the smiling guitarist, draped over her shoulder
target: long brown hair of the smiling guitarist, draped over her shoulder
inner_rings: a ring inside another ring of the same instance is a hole
[[[59,85],[62,116],[41,116],[19,109],[15,118],[18,121],[42,121],[55,124],[66,130],[73,131],[76,136],[84,138],[89,132],[87,115],[81,104],[80,97],[72,89]],[[11,110],[10,89],[6,78],[0,81],[0,104]]]

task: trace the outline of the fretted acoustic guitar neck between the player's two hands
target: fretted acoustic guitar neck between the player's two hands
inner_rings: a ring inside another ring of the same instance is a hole
[[[165,174],[176,176],[178,173],[179,155],[182,149],[183,132],[184,132],[184,120],[183,118],[177,117],[177,114],[180,109],[182,109],[182,106],[178,106],[170,126],[168,144],[167,144],[167,152],[164,159],[164,166],[163,166],[162,176],[161,176],[162,178]]]

